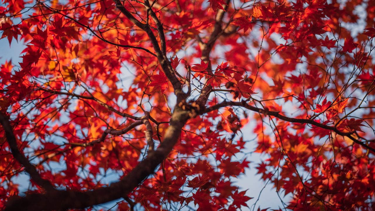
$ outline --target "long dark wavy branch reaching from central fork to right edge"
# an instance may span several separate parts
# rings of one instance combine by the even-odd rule
[[[224,102],[221,102],[221,103],[216,104],[214,106],[208,107],[207,109],[203,110],[201,112],[201,114],[202,113],[208,113],[208,112],[211,112],[211,111],[214,111],[214,110],[220,109],[222,107],[226,107],[226,106],[240,106],[240,107],[244,107],[246,109],[252,110],[254,112],[262,113],[264,115],[275,116],[276,118],[287,121],[287,122],[301,123],[301,124],[311,124],[311,125],[315,125],[315,126],[320,127],[320,128],[331,130],[331,131],[334,131],[335,133],[337,133],[341,136],[346,136],[346,137],[350,138],[351,140],[353,140],[353,142],[355,142],[355,143],[363,146],[364,148],[372,151],[373,153],[375,153],[374,148],[366,145],[363,142],[360,142],[359,140],[357,140],[353,136],[351,136],[353,133],[342,132],[342,131],[338,130],[338,128],[336,128],[336,127],[324,125],[324,124],[321,124],[319,122],[315,122],[313,119],[299,119],[299,118],[290,118],[290,117],[287,117],[287,116],[283,116],[279,112],[273,112],[273,111],[269,111],[269,110],[266,110],[266,109],[257,108],[255,106],[247,104],[245,101],[242,101],[242,102],[224,101]]]

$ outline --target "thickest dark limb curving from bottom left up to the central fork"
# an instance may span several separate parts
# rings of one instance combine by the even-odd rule
[[[121,181],[115,182],[109,187],[85,192],[58,190],[48,194],[28,194],[23,198],[9,200],[5,211],[82,209],[126,196],[153,173],[154,169],[172,151],[187,119],[189,119],[189,113],[180,107],[175,107],[159,148],[150,152],[147,158],[134,167]]]

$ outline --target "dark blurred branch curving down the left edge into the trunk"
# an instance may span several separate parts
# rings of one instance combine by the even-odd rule
[[[49,182],[46,179],[43,179],[40,177],[39,173],[35,169],[35,166],[33,166],[28,159],[25,157],[24,154],[20,152],[17,146],[17,140],[14,136],[13,129],[10,126],[9,120],[3,116],[3,114],[0,113],[0,123],[3,125],[4,133],[6,136],[6,140],[9,144],[10,151],[12,151],[12,155],[14,159],[16,159],[21,165],[25,167],[26,172],[30,175],[31,179],[40,187],[44,188],[46,191],[53,192],[56,191],[56,189],[53,187],[51,182]]]

